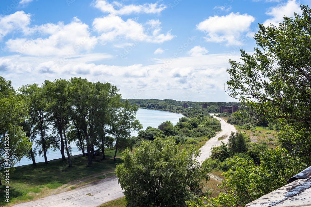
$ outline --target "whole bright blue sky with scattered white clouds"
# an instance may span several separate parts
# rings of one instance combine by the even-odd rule
[[[237,101],[229,59],[252,53],[258,24],[310,0],[1,0],[0,76],[110,82],[124,99]]]

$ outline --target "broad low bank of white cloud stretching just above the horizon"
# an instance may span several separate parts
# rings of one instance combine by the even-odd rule
[[[157,59],[149,65],[118,66],[94,64],[89,61],[92,56],[96,59],[109,57],[81,55],[59,64],[57,57],[13,55],[0,58],[0,69],[3,66],[2,76],[11,80],[16,89],[23,84],[41,85],[44,80],[53,81],[59,77],[67,80],[81,77],[88,81],[110,82],[120,88],[124,98],[224,101],[228,99],[223,89],[229,76],[226,72],[230,67],[228,59],[240,59],[239,54],[213,54]]]

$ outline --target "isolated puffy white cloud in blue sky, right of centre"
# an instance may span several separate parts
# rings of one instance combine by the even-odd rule
[[[250,24],[255,18],[248,14],[230,13],[226,16],[209,17],[197,24],[197,29],[207,34],[208,42],[226,42],[227,45],[242,45],[239,38],[241,33],[249,31]]]

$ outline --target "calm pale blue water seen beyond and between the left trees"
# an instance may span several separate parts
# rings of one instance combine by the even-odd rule
[[[148,126],[152,126],[157,128],[162,122],[165,121],[171,121],[173,125],[176,125],[176,123],[179,121],[179,118],[184,117],[182,114],[178,113],[173,113],[173,112],[164,112],[164,111],[158,111],[158,110],[147,110],[147,109],[142,109],[139,108],[136,118],[140,121],[140,123],[143,126],[143,130],[146,130]],[[137,132],[132,132],[132,136],[137,136]],[[76,146],[71,146],[72,147],[72,155],[79,155],[82,154],[82,152],[79,150]],[[67,153],[65,152],[65,155]],[[48,160],[54,160],[61,158],[60,151],[53,151],[52,149],[49,149],[47,152],[47,158]],[[44,157],[36,156],[35,157],[36,162],[44,162]],[[16,166],[21,166],[21,165],[29,165],[32,164],[31,160],[28,160],[28,158],[23,157],[21,159],[21,162],[17,163]]]

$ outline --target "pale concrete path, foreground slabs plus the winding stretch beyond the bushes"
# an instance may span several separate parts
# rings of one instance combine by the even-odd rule
[[[215,116],[214,118],[222,120]],[[202,154],[198,157],[198,161],[202,162],[209,157],[211,155],[211,148],[215,145],[220,145],[221,141],[227,143],[231,131],[235,131],[234,126],[227,124],[225,121],[221,121],[220,123],[222,131],[208,140],[207,143],[200,148]],[[218,140],[218,138],[222,136],[227,136],[227,138]],[[113,178],[110,180],[105,179],[104,182],[89,187],[76,188],[72,191],[17,204],[14,205],[14,207],[96,207],[123,196],[123,190],[118,184],[118,179]]]

